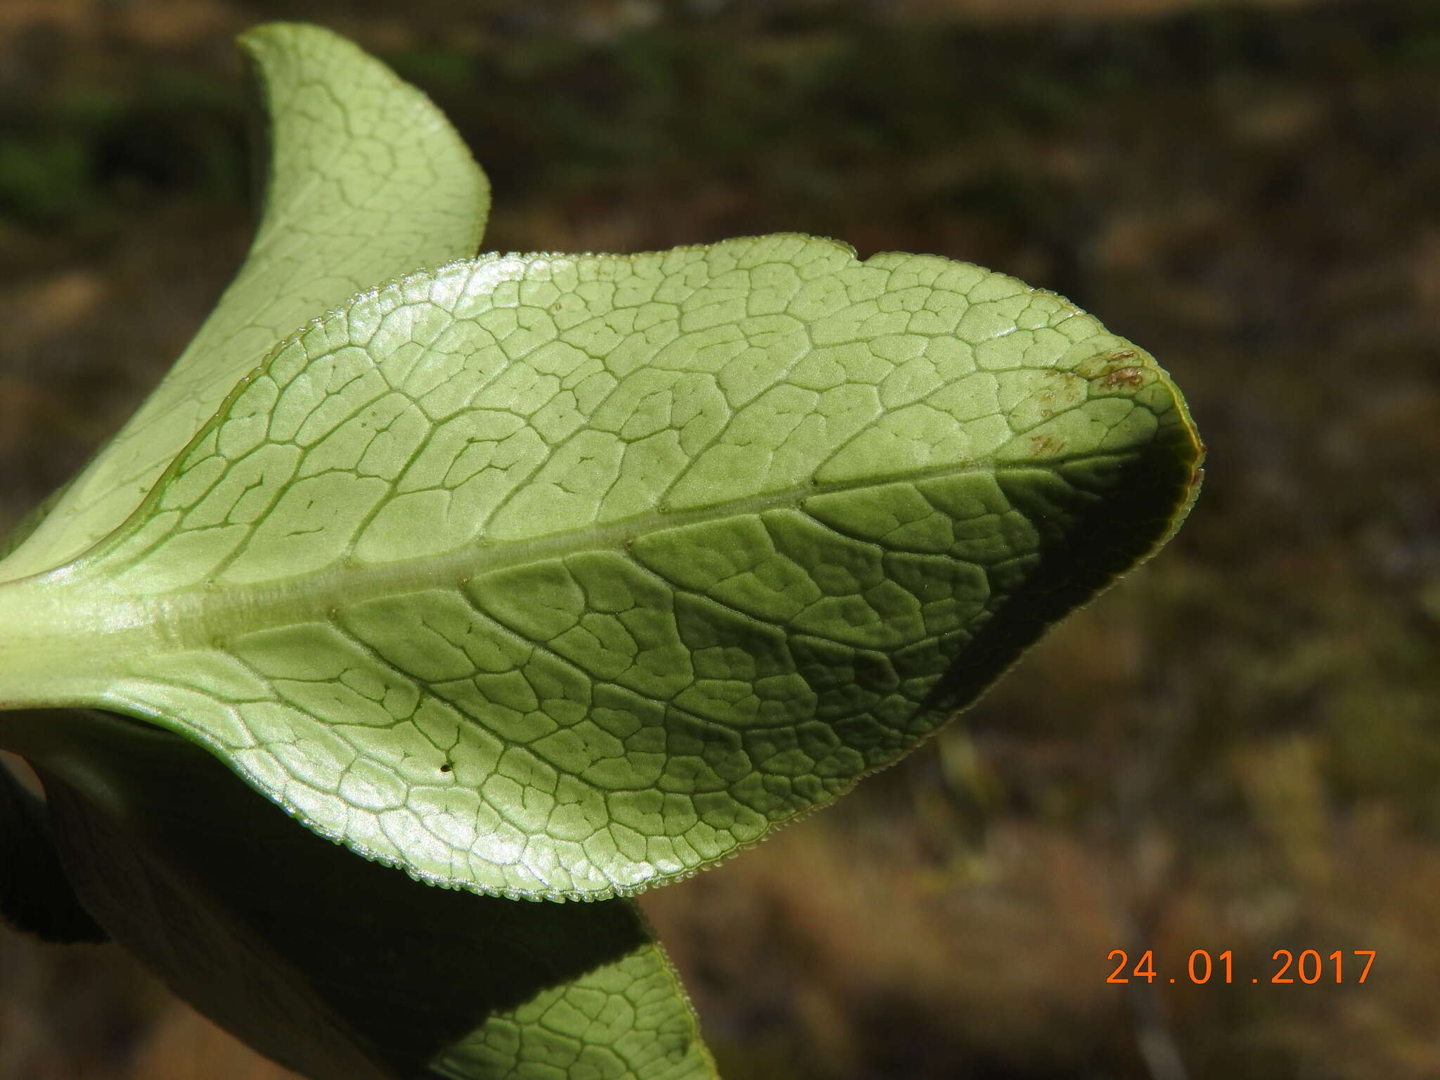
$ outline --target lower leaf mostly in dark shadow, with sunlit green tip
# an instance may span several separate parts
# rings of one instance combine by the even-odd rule
[[[708,1080],[629,900],[433,888],[295,828],[184,739],[27,717],[56,835],[96,916],[253,1047],[315,1080]]]

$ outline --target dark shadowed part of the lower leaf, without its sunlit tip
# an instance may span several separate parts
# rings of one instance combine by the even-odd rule
[[[490,1014],[648,942],[626,901],[498,900],[359,858],[148,724],[78,711],[26,723],[65,740],[39,773],[85,904],[202,1011],[301,1071],[372,1076],[354,1050],[307,1057],[318,1028],[396,1076],[429,1076]]]

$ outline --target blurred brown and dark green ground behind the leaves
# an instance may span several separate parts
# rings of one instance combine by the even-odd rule
[[[0,526],[238,265],[232,39],[275,17],[439,102],[487,248],[942,253],[1189,396],[1208,480],[1153,563],[900,766],[645,897],[727,1080],[1440,1077],[1440,4],[0,0]],[[1161,978],[1107,984],[1113,949]],[[1277,949],[1377,959],[1276,985]],[[114,946],[0,929],[0,1080],[284,1076]]]

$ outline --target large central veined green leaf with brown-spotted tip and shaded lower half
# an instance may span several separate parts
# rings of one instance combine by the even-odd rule
[[[317,320],[0,589],[0,701],[147,717],[429,881],[631,893],[910,750],[1198,462],[1149,356],[978,266],[488,256]]]

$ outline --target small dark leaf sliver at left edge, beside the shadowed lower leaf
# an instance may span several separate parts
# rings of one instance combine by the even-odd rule
[[[45,804],[0,760],[0,919],[46,942],[104,942],[60,868]]]

